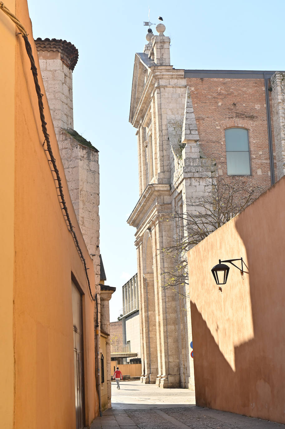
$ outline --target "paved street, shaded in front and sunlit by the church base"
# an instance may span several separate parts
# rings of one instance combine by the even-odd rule
[[[112,383],[112,409],[97,417],[91,429],[285,429],[285,425],[239,414],[196,407],[186,389],[159,389],[153,384]]]

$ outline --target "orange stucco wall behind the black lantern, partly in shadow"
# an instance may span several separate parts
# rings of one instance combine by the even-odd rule
[[[285,178],[188,252],[197,405],[285,423]],[[218,291],[211,269],[230,264]]]

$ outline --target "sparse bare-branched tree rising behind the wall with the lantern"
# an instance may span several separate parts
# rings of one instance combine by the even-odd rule
[[[174,221],[177,230],[174,245],[160,249],[168,255],[173,268],[163,273],[162,287],[180,293],[180,287],[189,284],[187,251],[243,211],[262,192],[262,187],[243,178],[218,177],[212,179],[208,193],[189,201],[191,209],[187,213],[173,212],[169,221]]]

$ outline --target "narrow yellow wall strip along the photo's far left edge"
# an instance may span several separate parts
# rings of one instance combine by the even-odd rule
[[[15,13],[15,1],[6,6]],[[12,428],[14,408],[13,277],[15,162],[15,25],[0,11],[0,416],[1,427]]]

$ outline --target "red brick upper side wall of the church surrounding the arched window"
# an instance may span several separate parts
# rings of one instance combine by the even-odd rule
[[[225,128],[244,127],[249,130],[252,180],[270,187],[264,80],[187,78],[186,82],[191,90],[201,149],[205,157],[216,158],[219,175],[227,175]],[[271,125],[273,129],[272,120]]]

